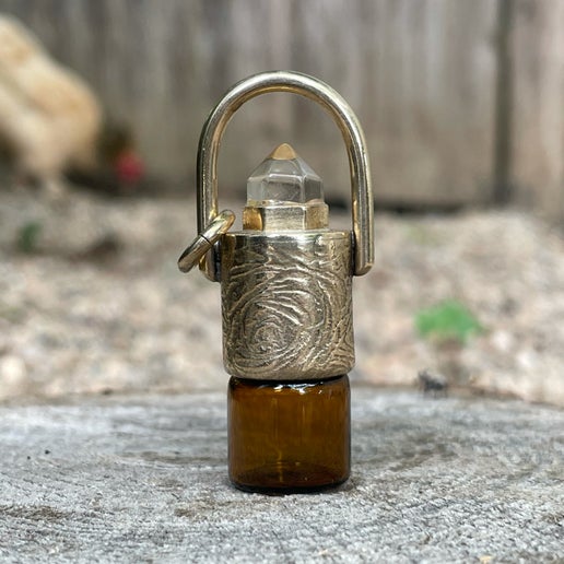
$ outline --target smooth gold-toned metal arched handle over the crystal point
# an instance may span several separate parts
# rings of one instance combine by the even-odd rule
[[[198,148],[198,232],[218,215],[218,153],[225,127],[245,102],[269,92],[299,94],[321,105],[341,130],[351,173],[352,224],[355,275],[365,274],[374,262],[373,201],[366,142],[361,125],[344,98],[320,80],[291,71],[255,74],[235,84],[208,117]],[[211,280],[219,280],[216,246],[200,262]]]

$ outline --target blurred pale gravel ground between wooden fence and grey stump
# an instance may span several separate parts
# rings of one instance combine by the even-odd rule
[[[0,399],[224,389],[220,287],[176,268],[195,231],[192,197],[2,191]],[[458,389],[564,406],[564,240],[540,220],[377,214],[376,265],[354,286],[353,381],[413,386],[426,367]],[[485,328],[463,346],[414,329],[448,298]]]

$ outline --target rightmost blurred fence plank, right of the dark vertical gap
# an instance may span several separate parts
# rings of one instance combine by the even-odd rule
[[[564,218],[564,3],[516,0],[512,180],[521,202]]]

